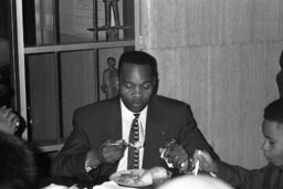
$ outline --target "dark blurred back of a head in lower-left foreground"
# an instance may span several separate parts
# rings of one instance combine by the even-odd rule
[[[20,138],[0,132],[0,189],[34,189],[35,178],[32,150]]]

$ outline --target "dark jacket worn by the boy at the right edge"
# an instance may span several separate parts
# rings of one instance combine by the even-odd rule
[[[283,167],[269,164],[261,169],[248,170],[240,166],[218,162],[217,176],[237,189],[282,189]]]

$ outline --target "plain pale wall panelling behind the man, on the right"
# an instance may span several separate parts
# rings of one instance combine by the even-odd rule
[[[189,103],[220,157],[247,168],[263,108],[279,97],[282,0],[143,0],[143,50],[157,57],[161,95]]]

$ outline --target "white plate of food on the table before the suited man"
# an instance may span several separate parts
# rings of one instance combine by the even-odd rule
[[[114,172],[111,175],[109,180],[125,187],[146,187],[153,185],[153,182],[143,182],[139,177],[145,172],[145,169],[129,169]]]

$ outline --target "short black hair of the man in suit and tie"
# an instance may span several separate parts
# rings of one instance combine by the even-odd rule
[[[137,64],[137,65],[150,65],[153,76],[158,77],[157,62],[154,56],[143,51],[126,51],[119,57],[118,73],[120,74],[120,67],[124,63]]]

